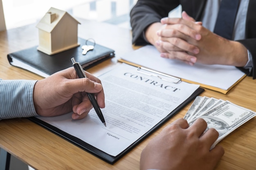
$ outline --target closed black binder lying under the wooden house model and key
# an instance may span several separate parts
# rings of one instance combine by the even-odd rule
[[[71,67],[72,62],[70,59],[72,57],[74,57],[76,62],[79,62],[84,69],[88,69],[110,57],[115,56],[114,50],[101,46],[97,43],[93,50],[90,50],[83,55],[83,49],[81,46],[85,45],[85,42],[86,40],[79,38],[80,46],[55,55],[47,55],[38,51],[38,46],[34,46],[29,49],[10,53],[7,55],[7,58],[9,63],[13,66],[24,68],[43,77],[48,77],[53,73]],[[93,42],[87,42],[87,45],[93,44]]]

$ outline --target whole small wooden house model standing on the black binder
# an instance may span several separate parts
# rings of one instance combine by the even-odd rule
[[[78,24],[80,22],[66,11],[51,7],[36,25],[39,35],[37,49],[53,55],[79,46]]]

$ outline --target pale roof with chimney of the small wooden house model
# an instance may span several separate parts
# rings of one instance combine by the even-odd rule
[[[75,18],[73,18],[69,13],[66,11],[62,11],[56,8],[51,7],[47,13],[45,13],[45,16],[38,22],[36,27],[38,29],[44,30],[48,33],[51,33],[54,27],[58,24],[58,22],[63,18],[64,16],[70,17],[72,20],[78,22]]]

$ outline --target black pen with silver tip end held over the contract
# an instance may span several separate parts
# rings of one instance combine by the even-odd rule
[[[76,62],[74,57],[71,59],[73,66],[76,70],[76,73],[78,75],[79,78],[86,78],[85,72],[83,70],[83,67],[80,65],[79,62]],[[99,116],[99,119],[101,119],[101,122],[106,126],[106,122],[105,119],[103,117],[103,114],[101,112],[101,108],[99,108],[99,105],[97,103],[97,100],[95,99],[94,95],[92,93],[87,93],[88,97],[92,103],[92,106],[95,110],[95,112],[97,113],[97,115]],[[107,126],[106,126],[107,127]]]

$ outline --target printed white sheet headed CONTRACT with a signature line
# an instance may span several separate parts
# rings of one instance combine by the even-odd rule
[[[146,75],[124,63],[99,76],[105,93],[106,107],[101,111],[106,127],[93,108],[82,120],[72,120],[72,113],[36,119],[116,157],[156,128],[170,113],[175,115],[179,111],[173,113],[173,110],[183,108],[203,91],[199,85],[173,83],[168,77],[161,79],[163,76],[160,76]],[[195,93],[198,89],[201,91]]]

